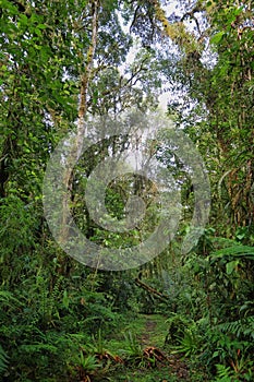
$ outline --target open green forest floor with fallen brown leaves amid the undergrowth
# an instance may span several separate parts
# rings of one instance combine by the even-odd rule
[[[128,334],[129,333],[129,334]],[[130,335],[131,333],[131,335]],[[135,320],[126,322],[121,331],[109,342],[110,350],[114,354],[119,349],[129,347],[132,354],[132,362],[118,365],[116,370],[109,373],[107,381],[113,382],[177,382],[177,381],[203,381],[206,379],[198,370],[192,370],[190,361],[185,361],[180,355],[172,355],[165,346],[167,335],[166,318],[161,314],[138,314]],[[126,341],[129,338],[129,341]],[[130,343],[130,338],[132,339]],[[138,351],[155,351],[165,358],[149,365],[146,359],[138,356]],[[135,355],[136,353],[136,355]],[[136,360],[136,362],[135,362]],[[106,380],[105,380],[106,381]]]

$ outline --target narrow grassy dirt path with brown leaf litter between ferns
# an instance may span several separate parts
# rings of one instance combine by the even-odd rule
[[[137,365],[120,365],[116,373],[111,374],[113,382],[207,382],[206,378],[199,379],[198,370],[191,370],[188,361],[181,359],[182,355],[174,355],[170,347],[165,346],[168,324],[162,314],[138,314],[133,322],[129,322],[124,332],[131,331],[143,350],[143,357],[148,355],[162,355],[157,359],[156,366],[150,367],[137,356]],[[123,333],[124,333],[123,332]],[[123,334],[122,334],[123,335]],[[116,343],[114,343],[116,345]],[[123,344],[120,343],[116,353]],[[158,349],[158,351],[157,351]],[[155,353],[153,353],[155,350]],[[141,363],[138,363],[141,362]],[[203,375],[203,373],[202,373]]]

